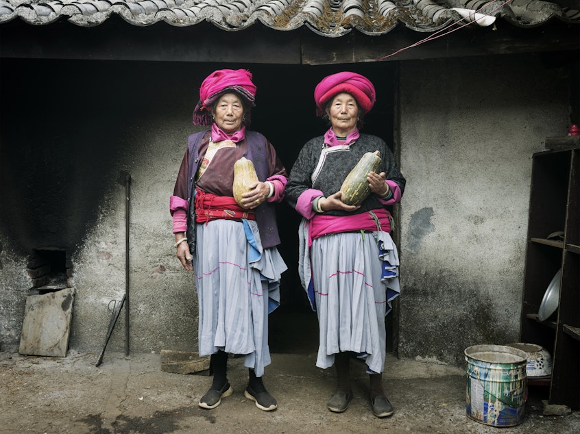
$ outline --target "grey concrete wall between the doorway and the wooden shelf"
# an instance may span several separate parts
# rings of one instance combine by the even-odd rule
[[[470,345],[518,342],[531,155],[568,131],[568,77],[535,56],[400,76],[400,355],[462,363]]]

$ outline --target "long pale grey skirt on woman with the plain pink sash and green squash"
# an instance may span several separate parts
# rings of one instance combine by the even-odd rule
[[[312,283],[319,324],[316,366],[333,366],[335,354],[352,351],[367,372],[385,367],[385,315],[400,293],[398,254],[388,233],[346,232],[311,246]]]

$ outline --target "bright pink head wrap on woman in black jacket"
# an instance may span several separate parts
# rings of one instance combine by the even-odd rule
[[[318,116],[324,116],[324,105],[336,94],[347,92],[351,94],[361,106],[363,113],[372,109],[376,101],[374,86],[367,77],[357,73],[343,71],[324,77],[314,89],[314,101],[318,107]]]

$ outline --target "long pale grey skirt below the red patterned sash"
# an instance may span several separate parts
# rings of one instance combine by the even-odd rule
[[[193,259],[199,305],[199,351],[245,355],[262,376],[270,363],[268,314],[280,304],[287,266],[277,248],[263,248],[255,221],[196,225]]]

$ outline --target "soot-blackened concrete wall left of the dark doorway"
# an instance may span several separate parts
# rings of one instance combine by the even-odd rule
[[[2,349],[19,345],[35,248],[71,256],[71,348],[102,348],[110,308],[125,292],[125,186],[118,182],[124,170],[132,177],[131,349],[195,350],[193,276],[175,257],[169,196],[193,131],[196,92],[210,69],[143,65],[3,61]],[[108,350],[123,348],[123,327],[121,314]]]

